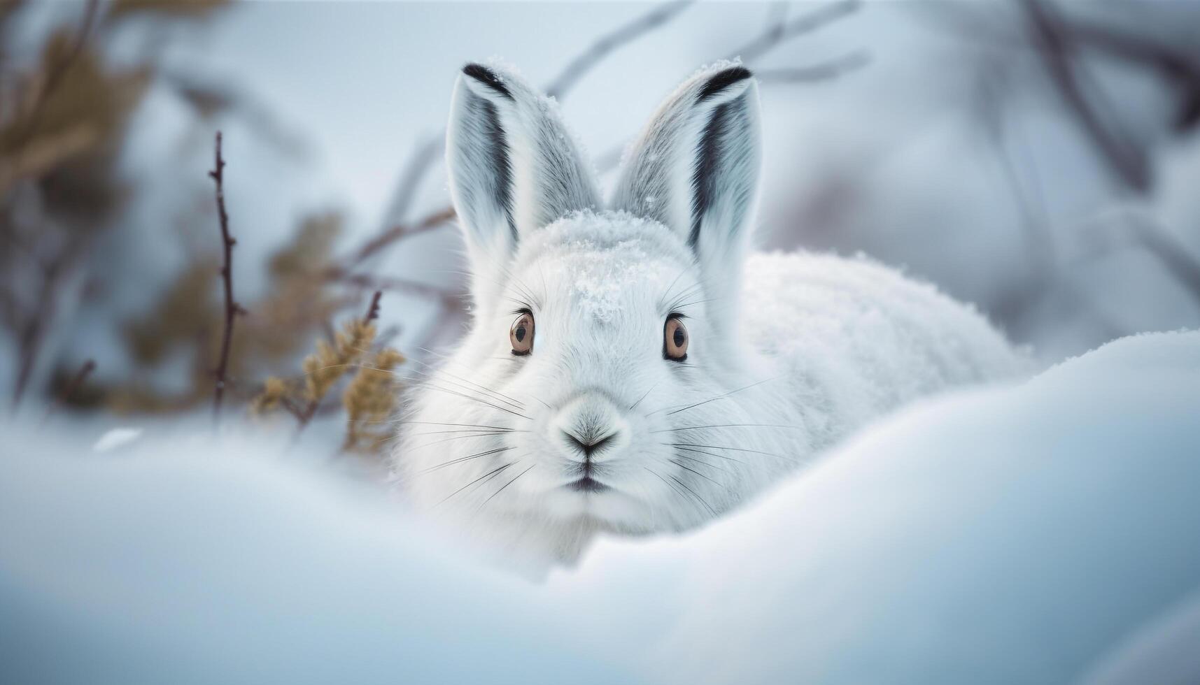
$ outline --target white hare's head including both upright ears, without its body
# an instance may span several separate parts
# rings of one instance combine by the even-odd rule
[[[756,480],[738,335],[757,88],[703,71],[602,204],[556,103],[463,68],[446,136],[473,325],[415,399],[397,465],[428,504],[628,531],[707,519]],[[768,411],[769,414],[770,411]]]

